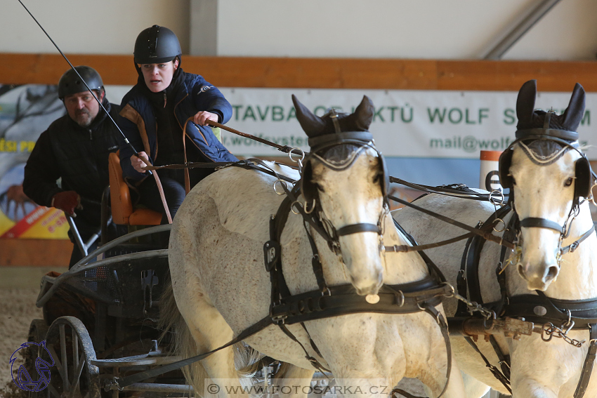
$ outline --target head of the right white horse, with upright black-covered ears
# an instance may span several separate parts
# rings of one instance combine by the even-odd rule
[[[531,290],[545,291],[560,272],[562,242],[590,197],[591,166],[576,132],[584,114],[584,90],[576,84],[563,114],[534,110],[537,81],[518,93],[516,141],[500,157],[499,177],[510,188],[520,220],[518,273]]]

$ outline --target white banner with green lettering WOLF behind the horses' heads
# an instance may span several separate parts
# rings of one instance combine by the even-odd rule
[[[107,88],[110,100],[124,95],[124,86]],[[480,150],[504,150],[516,133],[516,97],[512,91],[402,91],[298,88],[220,88],[233,107],[227,125],[280,145],[308,150],[307,137],[296,121],[291,94],[322,116],[329,107],[353,112],[363,95],[375,105],[369,130],[388,157],[479,159]],[[536,109],[561,114],[570,93],[539,93]],[[118,98],[119,101],[119,98]],[[597,93],[587,93],[579,126],[580,141],[597,145],[591,128]],[[280,155],[274,148],[249,138],[224,133],[225,146],[244,156]],[[587,153],[597,159],[597,151]]]

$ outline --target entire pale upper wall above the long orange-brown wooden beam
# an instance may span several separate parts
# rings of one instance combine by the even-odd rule
[[[190,20],[201,19],[190,1],[217,1],[216,51],[203,53],[475,59],[542,0],[23,1],[67,53],[132,53],[138,32],[154,23],[173,29],[188,53]],[[596,15],[595,0],[560,1],[504,59],[593,60]],[[0,37],[0,52],[55,51],[16,0],[1,4]]]

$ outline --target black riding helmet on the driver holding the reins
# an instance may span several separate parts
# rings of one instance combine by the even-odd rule
[[[135,41],[136,64],[158,64],[181,58],[178,37],[167,27],[153,25],[141,32]]]

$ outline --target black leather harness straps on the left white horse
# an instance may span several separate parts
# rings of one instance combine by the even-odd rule
[[[369,134],[368,132],[365,133]],[[326,142],[324,142],[324,147],[345,143],[342,140],[343,134],[346,133],[337,134],[336,139],[334,140],[329,140],[329,138],[327,138]],[[355,143],[360,142],[361,145],[363,144],[363,140],[360,139],[361,137],[357,137],[357,135],[354,133],[349,134],[351,141],[356,141]],[[367,143],[366,145],[369,144]],[[314,152],[317,151],[313,151],[312,153]],[[380,157],[380,159],[383,158]],[[259,164],[265,168],[268,168],[268,166],[263,164],[263,161],[259,159],[250,159],[250,161],[247,159],[247,161],[240,161],[237,164],[227,164],[226,166],[254,168],[258,171],[265,171],[271,175],[275,175],[280,180],[289,180],[289,178],[275,173],[275,171],[271,170],[270,168],[268,168],[268,170],[264,170],[263,168],[256,167],[255,164]],[[211,167],[213,166],[216,165],[212,164]],[[388,175],[383,164],[382,167],[383,173],[385,174],[383,176],[384,180],[382,181],[383,189],[384,187],[388,186]],[[438,267],[436,267],[435,264],[433,264],[431,260],[429,260],[427,256],[421,252],[421,256],[426,261],[431,276],[421,279],[420,281],[409,282],[406,284],[383,285],[379,290],[379,302],[377,303],[368,303],[365,296],[357,295],[355,293],[355,288],[350,284],[327,286],[327,283],[324,279],[322,264],[319,260],[319,253],[317,251],[317,247],[315,246],[313,237],[311,237],[310,231],[308,230],[308,225],[313,227],[313,230],[320,234],[328,242],[329,248],[335,252],[339,249],[339,246],[336,246],[334,241],[337,241],[337,237],[339,236],[357,232],[377,232],[381,234],[380,223],[383,222],[383,217],[380,216],[380,223],[378,223],[378,225],[360,223],[348,225],[346,227],[339,228],[338,230],[332,228],[332,234],[330,235],[328,232],[329,228],[326,229],[322,225],[322,221],[315,217],[315,211],[310,211],[307,213],[302,206],[297,205],[297,198],[301,193],[301,184],[297,183],[292,190],[288,190],[284,184],[282,184],[282,187],[287,197],[282,201],[282,204],[280,204],[276,215],[273,215],[270,218],[270,240],[265,242],[263,246],[265,270],[270,272],[270,314],[256,322],[256,324],[249,326],[249,328],[242,331],[230,342],[216,348],[215,350],[211,350],[209,352],[205,352],[204,354],[199,354],[188,359],[183,359],[182,361],[176,361],[172,364],[160,366],[155,369],[136,373],[131,376],[126,376],[124,378],[114,377],[109,384],[116,385],[118,390],[122,390],[124,387],[133,383],[138,383],[142,380],[158,376],[168,371],[180,369],[183,366],[187,366],[195,361],[204,359],[218,350],[221,350],[225,347],[230,347],[235,343],[239,343],[241,340],[249,338],[255,333],[258,333],[267,326],[273,324],[277,325],[280,330],[284,332],[284,334],[301,346],[303,352],[305,352],[306,359],[308,359],[310,364],[312,364],[315,369],[327,371],[327,369],[325,369],[320,363],[320,360],[311,356],[306,347],[300,341],[298,341],[294,335],[292,335],[292,333],[288,330],[287,325],[298,323],[303,326],[305,331],[307,331],[304,324],[305,321],[324,319],[328,317],[338,317],[345,314],[355,314],[362,312],[376,312],[381,314],[412,314],[415,312],[427,312],[433,317],[433,319],[435,319],[435,321],[438,323],[438,326],[440,326],[440,331],[442,333],[442,337],[444,338],[447,350],[447,380],[441,394],[438,397],[442,396],[442,394],[444,394],[444,392],[447,390],[448,380],[450,379],[450,372],[452,370],[452,350],[450,347],[450,336],[447,330],[447,322],[435,307],[440,305],[442,297],[448,296],[452,289],[450,286],[447,286],[447,284],[444,283],[445,278],[441,274]],[[383,194],[385,198],[384,201],[387,201],[387,193],[385,190],[383,191]],[[300,213],[303,217],[310,246],[313,249],[313,273],[317,279],[318,286],[317,290],[315,291],[300,293],[294,296],[290,294],[289,288],[284,279],[284,274],[282,272],[282,248],[280,245],[282,230],[284,229],[284,225],[287,221],[291,208]],[[396,226],[405,234],[405,236],[409,237],[409,235],[406,234],[399,225]],[[414,242],[414,239],[412,239],[412,242]],[[414,244],[416,244],[416,242],[414,242]],[[392,251],[391,248],[386,248],[386,250]],[[322,358],[320,351],[317,349],[317,346],[313,340],[310,337],[309,340],[310,345],[317,356]],[[406,397],[413,397],[411,394],[398,388],[393,390],[392,393],[399,393],[405,395]]]

